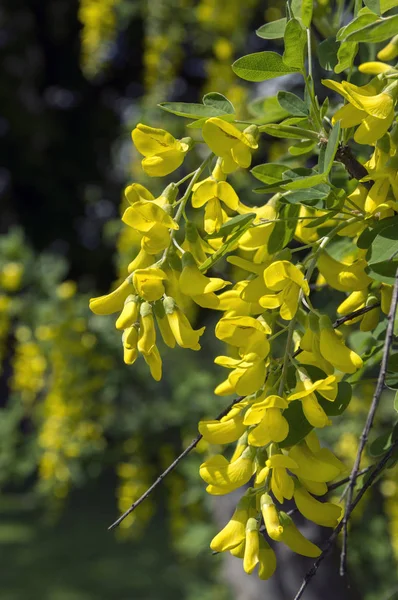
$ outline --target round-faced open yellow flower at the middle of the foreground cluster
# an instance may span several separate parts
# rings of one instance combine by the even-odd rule
[[[293,319],[297,312],[301,291],[308,296],[310,289],[303,273],[287,260],[278,260],[264,271],[265,285],[277,294],[264,295],[259,303],[264,308],[280,307],[282,319]]]

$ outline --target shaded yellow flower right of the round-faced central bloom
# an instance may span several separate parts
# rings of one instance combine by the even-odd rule
[[[323,250],[318,258],[317,267],[330,287],[339,292],[355,292],[367,288],[372,280],[365,273],[367,262],[364,258],[351,265],[332,258]]]

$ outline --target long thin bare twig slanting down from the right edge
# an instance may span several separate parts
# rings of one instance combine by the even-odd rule
[[[347,525],[348,525],[348,519],[350,518],[350,514],[352,511],[352,498],[353,498],[353,494],[354,494],[356,476],[359,471],[362,454],[363,454],[364,448],[366,446],[366,442],[368,441],[369,432],[372,428],[376,410],[379,405],[381,394],[384,389],[384,383],[385,383],[386,373],[387,373],[388,357],[390,355],[390,350],[391,350],[391,346],[392,346],[392,342],[393,342],[394,321],[395,321],[395,313],[397,311],[397,303],[398,303],[398,269],[395,274],[395,283],[394,283],[394,288],[393,288],[393,292],[392,292],[391,306],[390,306],[390,311],[389,311],[388,317],[387,317],[388,325],[387,325],[386,337],[384,340],[383,357],[381,359],[379,376],[377,378],[377,384],[376,384],[376,388],[375,388],[375,391],[373,394],[373,399],[372,399],[372,403],[370,405],[368,416],[366,419],[365,427],[363,428],[363,431],[362,431],[362,434],[361,434],[361,437],[359,440],[358,451],[357,451],[357,455],[355,458],[354,466],[352,467],[350,481],[348,484],[346,509],[344,512],[344,517],[342,519],[344,531],[343,531],[343,546],[341,549],[341,561],[340,561],[340,575],[341,576],[343,576],[345,574],[346,566],[347,566],[347,542],[348,542],[348,527],[347,527]]]

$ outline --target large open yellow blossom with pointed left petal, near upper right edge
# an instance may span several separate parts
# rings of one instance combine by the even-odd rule
[[[347,100],[348,104],[334,114],[332,122],[340,121],[343,128],[359,125],[354,134],[358,144],[374,144],[388,131],[394,119],[396,82],[386,86],[383,79],[376,77],[362,87],[331,79],[324,79],[322,83]]]

